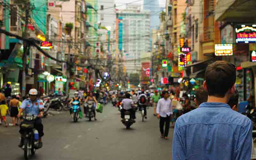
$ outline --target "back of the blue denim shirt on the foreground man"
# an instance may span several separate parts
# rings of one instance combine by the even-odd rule
[[[246,140],[249,132],[240,134],[245,128],[251,127],[249,124],[249,118],[233,111],[228,104],[212,105],[205,102],[199,108],[180,116],[175,129],[187,137],[183,143],[187,159],[205,160],[208,157],[210,160],[235,160],[241,154],[236,149],[243,147],[243,143],[252,141]],[[247,149],[247,153],[243,154],[250,155],[251,149]]]

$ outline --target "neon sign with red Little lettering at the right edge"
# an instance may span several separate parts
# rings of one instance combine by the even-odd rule
[[[237,25],[236,43],[256,43],[256,25]]]

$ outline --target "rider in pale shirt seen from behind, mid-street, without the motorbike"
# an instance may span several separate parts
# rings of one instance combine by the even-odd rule
[[[126,93],[125,94],[125,98],[122,100],[122,106],[123,106],[123,109],[122,109],[122,112],[121,112],[121,118],[122,118],[122,122],[124,122],[124,113],[125,111],[130,111],[131,113],[131,121],[132,123],[135,123],[134,119],[136,118],[135,117],[135,112],[134,110],[132,109],[132,107],[134,107],[134,103],[133,103],[133,100],[130,99],[130,94],[129,93]]]

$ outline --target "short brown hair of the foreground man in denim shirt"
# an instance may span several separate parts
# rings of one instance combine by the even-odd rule
[[[205,81],[210,96],[223,98],[236,83],[236,67],[226,61],[209,64],[205,70]]]

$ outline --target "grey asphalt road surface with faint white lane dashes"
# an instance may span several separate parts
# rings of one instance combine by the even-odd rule
[[[43,119],[43,148],[36,150],[34,160],[172,160],[172,134],[170,140],[160,138],[159,120],[148,109],[148,119],[141,121],[136,113],[136,123],[126,130],[120,122],[117,108],[108,104],[98,121],[86,118],[78,123],[68,112]],[[8,121],[10,119],[8,117]],[[23,150],[18,148],[19,127],[0,125],[0,159],[22,160]]]

